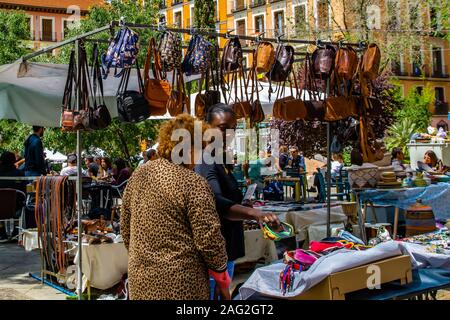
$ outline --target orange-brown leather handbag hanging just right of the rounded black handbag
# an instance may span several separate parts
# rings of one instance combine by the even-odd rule
[[[152,66],[153,79],[149,76],[152,57],[154,57],[154,64]],[[144,95],[148,101],[152,115],[166,114],[170,92],[170,84],[167,79],[164,79],[162,74],[161,59],[156,48],[156,41],[152,38],[148,45],[144,67]]]

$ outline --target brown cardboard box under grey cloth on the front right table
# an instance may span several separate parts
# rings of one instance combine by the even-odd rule
[[[313,288],[292,299],[345,300],[346,293],[368,288],[368,280],[372,276],[372,273],[368,272],[368,267],[373,265],[380,268],[380,284],[395,280],[400,280],[402,285],[412,282],[411,259],[403,255],[333,273]]]

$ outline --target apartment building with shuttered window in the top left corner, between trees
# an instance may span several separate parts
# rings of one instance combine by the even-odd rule
[[[82,18],[89,7],[104,0],[0,0],[0,9],[22,10],[28,16],[30,45],[34,49],[64,39],[75,16]]]

